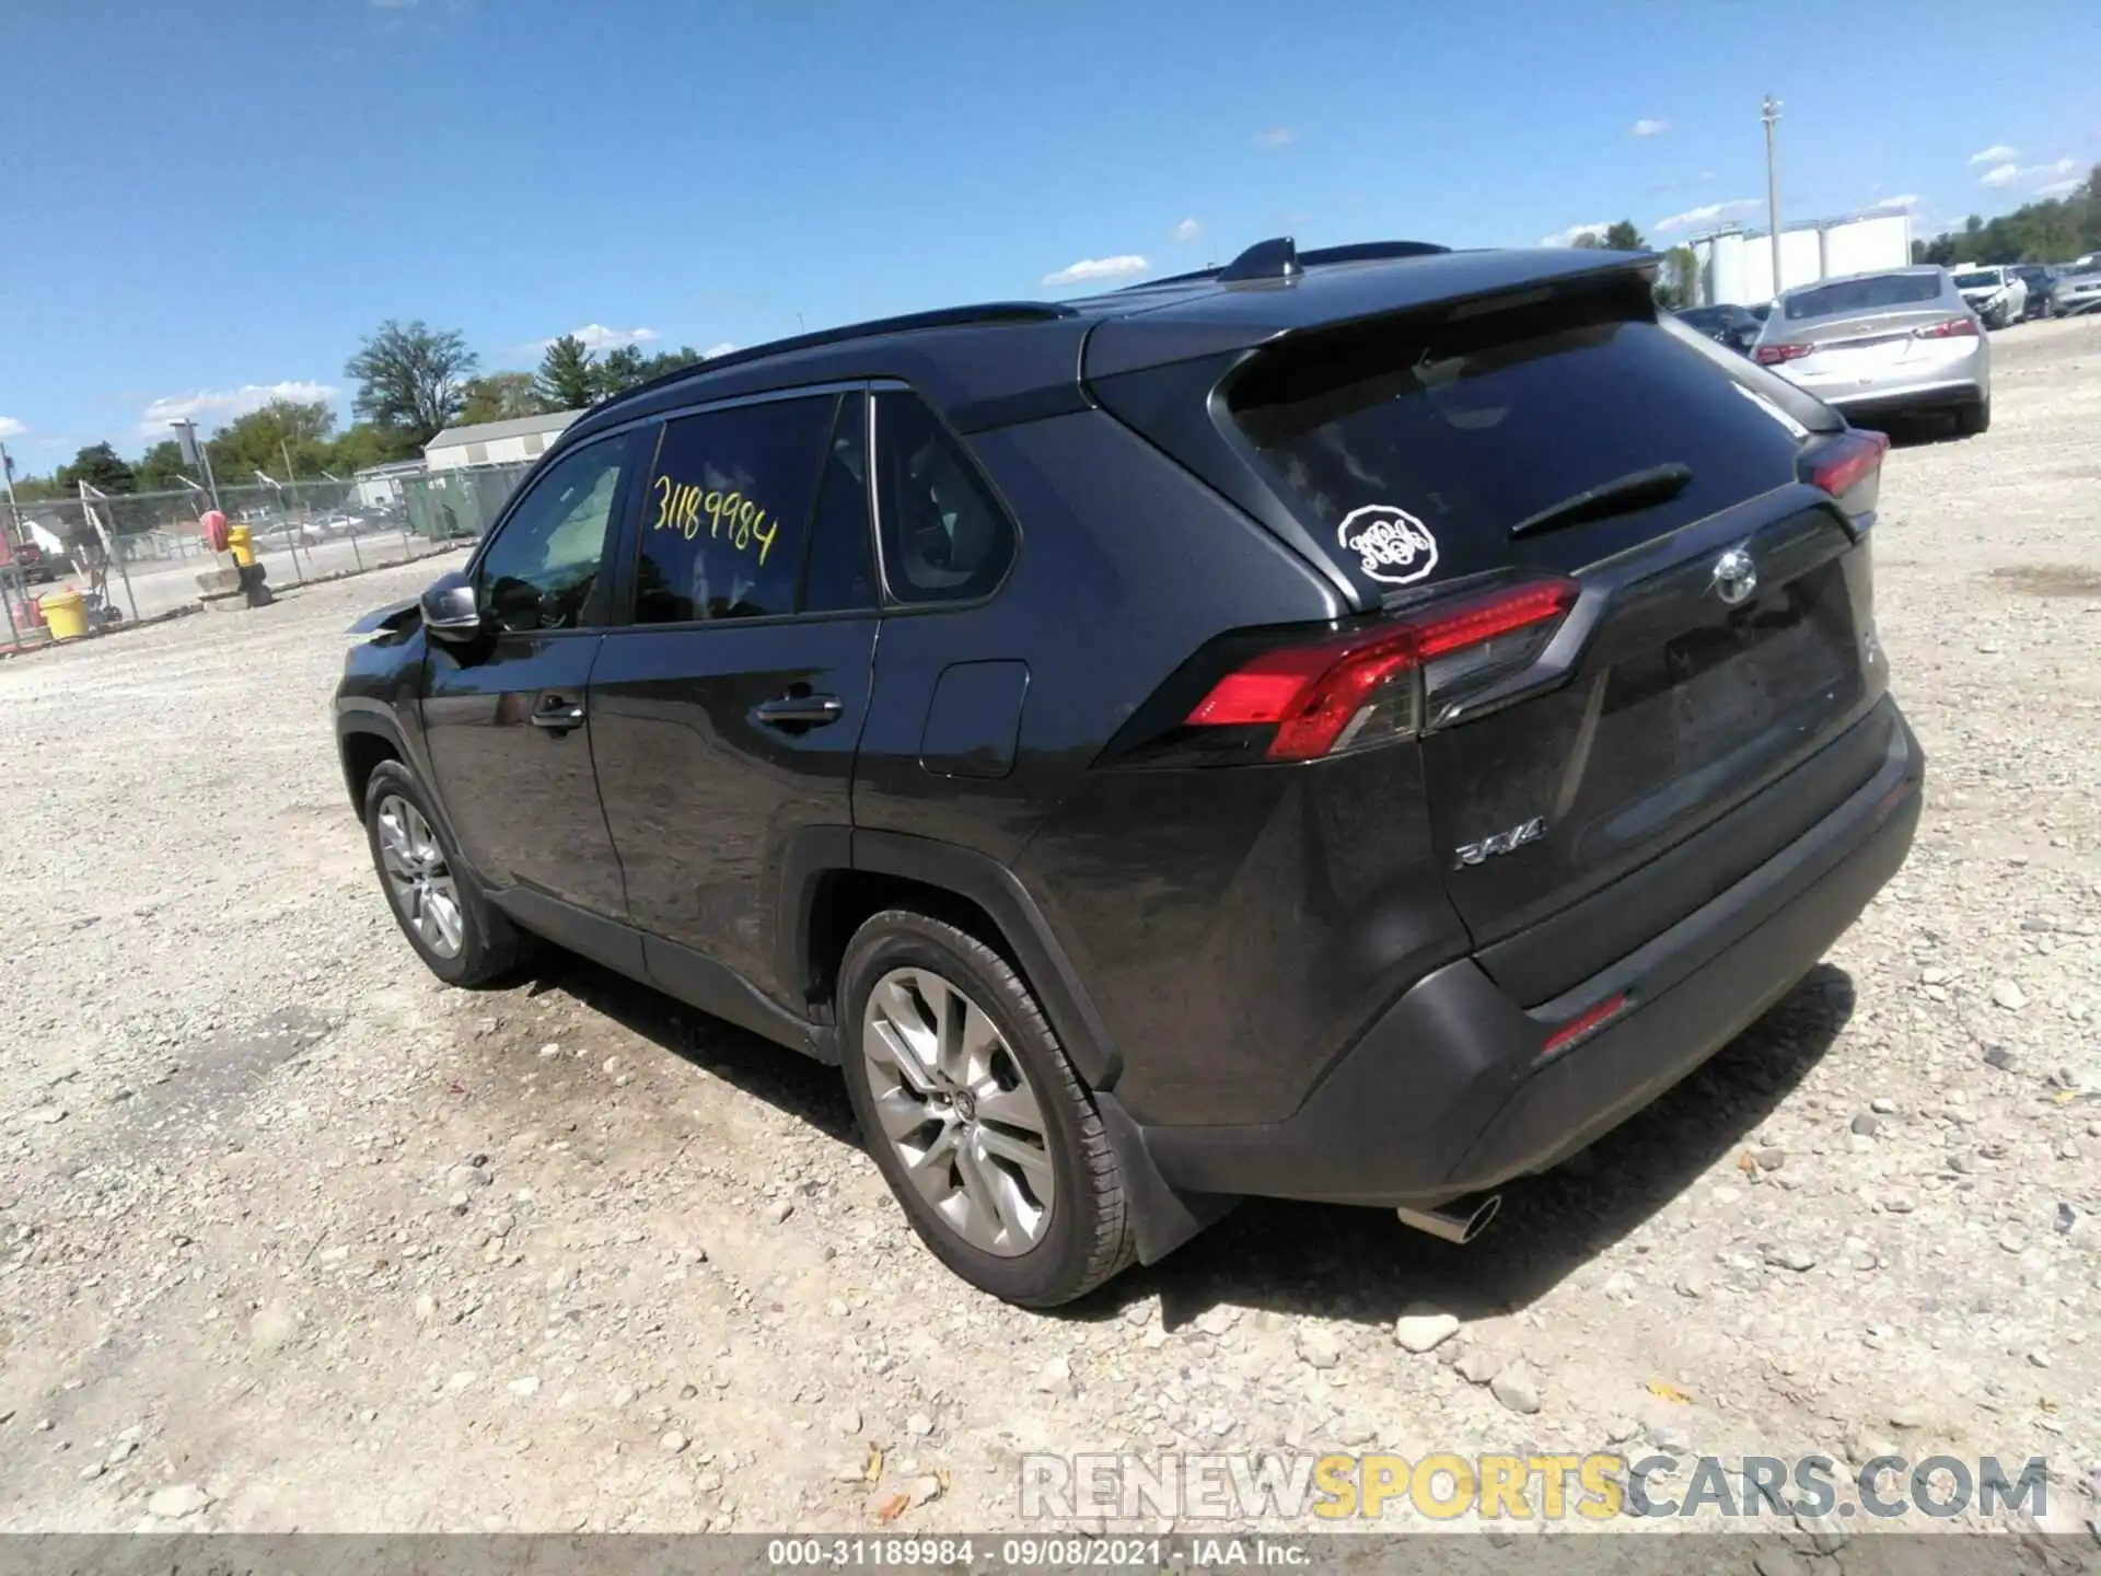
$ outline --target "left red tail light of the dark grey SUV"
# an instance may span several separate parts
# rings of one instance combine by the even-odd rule
[[[1271,727],[1267,761],[1412,738],[1427,704],[1454,685],[1538,656],[1574,603],[1574,580],[1527,580],[1374,628],[1280,645],[1219,679],[1183,725]]]

